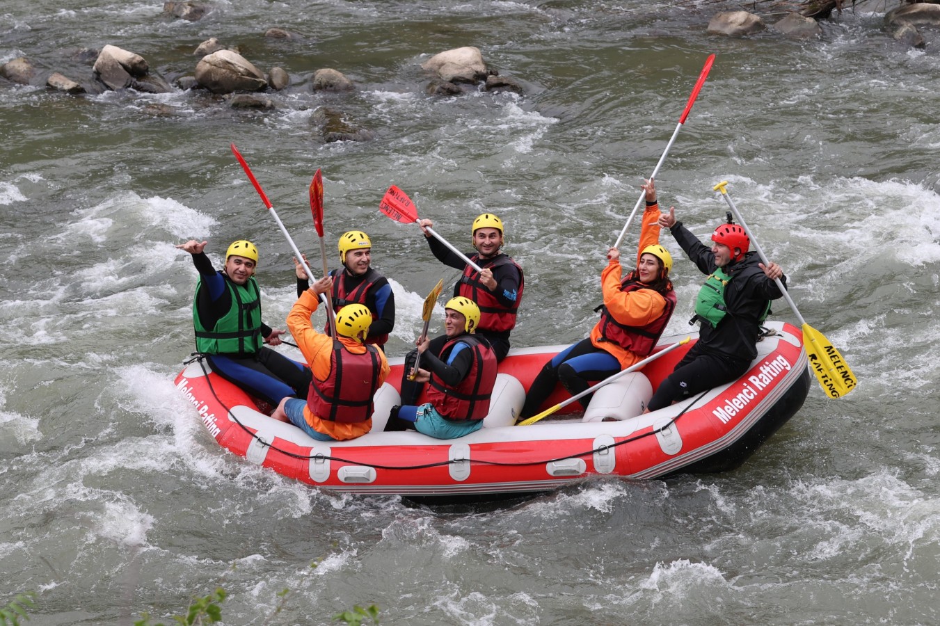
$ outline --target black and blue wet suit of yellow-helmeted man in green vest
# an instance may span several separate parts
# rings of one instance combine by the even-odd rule
[[[227,286],[228,277],[212,267],[205,253],[193,255],[193,264],[200,277],[196,291],[197,315],[204,328],[213,328],[234,305]],[[261,336],[270,336],[271,330],[261,323]],[[312,376],[309,368],[263,346],[258,352],[206,354],[206,359],[219,376],[272,406],[277,406],[287,396],[306,398]]]

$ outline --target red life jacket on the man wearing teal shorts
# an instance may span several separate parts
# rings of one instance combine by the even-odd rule
[[[428,401],[441,415],[449,419],[483,419],[490,413],[490,395],[496,383],[496,354],[486,341],[477,336],[461,335],[450,339],[441,349],[440,359],[462,342],[473,351],[473,365],[456,387],[447,386],[431,372]]]

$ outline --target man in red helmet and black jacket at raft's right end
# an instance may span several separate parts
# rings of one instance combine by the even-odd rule
[[[770,313],[770,301],[783,296],[774,279],[786,286],[787,278],[779,265],[765,267],[758,253],[747,251],[747,233],[730,217],[728,224],[715,228],[711,249],[676,221],[675,209],[659,218],[659,225],[669,229],[708,279],[698,291],[692,318],[701,322],[698,341],[656,389],[648,412],[730,383],[757,358],[760,323]]]

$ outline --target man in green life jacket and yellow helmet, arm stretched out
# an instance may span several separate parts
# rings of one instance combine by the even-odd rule
[[[252,396],[277,406],[289,396],[303,398],[310,370],[262,345],[277,346],[283,330],[261,321],[261,293],[255,280],[258,248],[240,240],[228,246],[225,268],[216,272],[204,250],[207,242],[176,246],[193,255],[199,273],[193,300],[196,350],[213,371]]]

